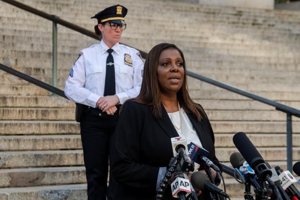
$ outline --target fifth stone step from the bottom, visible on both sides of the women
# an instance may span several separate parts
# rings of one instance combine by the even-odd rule
[[[214,133],[286,133],[286,122],[211,121]],[[300,123],[292,123],[293,133],[300,133]],[[78,134],[75,121],[0,121],[0,135]]]

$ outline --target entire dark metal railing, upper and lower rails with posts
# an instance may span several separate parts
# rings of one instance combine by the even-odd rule
[[[23,10],[26,10],[26,11],[31,12],[33,14],[36,14],[36,15],[38,15],[40,17],[46,18],[48,20],[51,20],[53,22],[53,86],[49,87],[50,85],[48,85],[47,83],[43,83],[43,82],[41,82],[41,81],[39,81],[37,79],[34,79],[34,78],[30,77],[30,76],[22,74],[22,73],[20,73],[20,72],[18,72],[16,70],[12,71],[11,68],[7,69],[9,67],[7,67],[5,65],[2,65],[2,64],[0,64],[0,69],[6,71],[8,73],[12,73],[13,75],[16,75],[16,76],[18,76],[20,78],[23,77],[24,80],[27,80],[30,83],[36,84],[37,86],[42,87],[42,88],[44,88],[46,90],[49,90],[49,91],[51,91],[51,92],[53,92],[55,94],[58,94],[59,96],[65,97],[63,91],[60,90],[60,89],[58,89],[58,88],[56,88],[56,84],[57,84],[57,24],[60,24],[60,25],[65,26],[65,27],[68,27],[68,28],[70,28],[70,29],[72,29],[74,31],[80,32],[80,33],[82,33],[84,35],[87,35],[87,36],[92,37],[92,38],[97,39],[97,40],[100,40],[99,36],[96,35],[94,32],[91,32],[91,31],[89,31],[89,30],[87,30],[85,28],[79,27],[79,26],[77,26],[75,24],[72,24],[70,22],[62,20],[58,16],[49,15],[46,12],[42,12],[40,10],[37,10],[35,8],[32,8],[30,6],[22,4],[20,2],[17,2],[17,1],[14,1],[14,0],[1,0],[1,1],[7,2],[7,3],[11,4],[11,5],[14,5],[14,6],[18,7],[18,8],[21,8]],[[143,51],[140,51],[140,53],[141,53],[141,55],[142,55],[143,58],[146,58],[147,55],[148,55],[148,53],[143,52]],[[210,84],[215,85],[217,87],[229,90],[229,91],[231,91],[233,93],[237,93],[237,94],[240,94],[242,96],[251,98],[253,100],[256,100],[256,101],[265,103],[267,105],[273,106],[273,107],[276,108],[276,110],[279,110],[279,111],[282,111],[284,113],[287,113],[287,169],[290,172],[292,172],[292,116],[296,116],[296,117],[300,118],[300,110],[291,108],[291,107],[283,105],[281,103],[277,103],[277,102],[272,101],[270,99],[260,97],[258,95],[253,94],[253,93],[247,92],[245,90],[241,90],[241,89],[233,87],[231,85],[228,85],[228,84],[225,84],[225,83],[222,83],[222,82],[219,82],[219,81],[215,81],[213,79],[201,76],[199,74],[196,74],[196,73],[193,73],[193,72],[190,72],[190,71],[187,71],[187,75],[191,76],[193,78],[196,78],[198,80],[204,81],[206,83],[210,83]],[[223,166],[225,166],[225,165],[223,165]],[[229,174],[233,173],[230,170],[230,168],[228,169],[227,167],[225,168],[224,172],[226,172],[226,171]]]

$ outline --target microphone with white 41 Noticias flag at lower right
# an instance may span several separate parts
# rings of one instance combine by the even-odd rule
[[[280,185],[284,190],[288,190],[288,192],[292,193],[292,196],[296,196],[298,199],[300,199],[300,192],[297,190],[297,188],[293,185],[297,182],[296,178],[289,172],[289,171],[283,171],[282,168],[276,166],[275,167],[276,172],[280,178]]]

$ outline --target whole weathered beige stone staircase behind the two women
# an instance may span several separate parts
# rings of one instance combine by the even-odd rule
[[[300,109],[300,13],[155,0],[19,0],[93,31],[98,11],[126,6],[125,44],[148,52],[161,42],[183,50],[188,70]],[[58,25],[58,87],[81,49],[97,40]],[[51,84],[52,22],[0,2],[0,63]],[[86,199],[74,103],[0,72],[0,199]],[[286,115],[189,78],[211,120],[217,157],[227,165],[234,133],[248,133],[263,158],[286,169]],[[293,160],[300,160],[293,117]],[[243,186],[225,175],[229,195]]]

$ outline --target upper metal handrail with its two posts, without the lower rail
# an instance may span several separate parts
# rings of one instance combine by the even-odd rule
[[[36,15],[38,15],[40,17],[46,18],[48,20],[51,20],[53,22],[53,32],[56,31],[56,28],[55,28],[54,24],[57,23],[57,24],[65,26],[65,27],[68,27],[68,28],[70,28],[70,29],[72,29],[74,31],[77,31],[77,32],[80,32],[80,33],[82,33],[84,35],[92,37],[94,39],[100,40],[99,36],[96,35],[94,32],[89,31],[89,30],[87,30],[85,28],[79,27],[79,26],[77,26],[77,25],[75,25],[73,23],[70,23],[70,22],[67,22],[65,20],[62,20],[58,16],[50,15],[50,14],[48,14],[46,12],[42,12],[40,10],[37,10],[37,9],[32,8],[30,6],[27,6],[27,5],[23,4],[23,3],[17,2],[15,0],[2,0],[2,1],[7,2],[7,3],[9,3],[11,5],[14,5],[14,6],[18,7],[18,8],[21,8],[23,10],[26,10],[28,12],[31,12],[33,14],[36,14]],[[56,37],[55,33],[53,33],[53,38],[54,37]],[[53,41],[53,51],[55,50],[54,45],[55,45],[55,42]],[[141,55],[142,55],[143,58],[147,57],[148,53],[143,52],[141,50],[139,50],[139,51],[140,51],[140,53],[141,53]],[[55,56],[56,56],[56,53],[53,53],[53,63],[56,63],[55,62],[55,58],[54,58]],[[54,66],[54,64],[53,64],[53,77],[56,75],[55,70],[56,70],[56,66]],[[216,80],[213,80],[213,79],[201,76],[199,74],[196,74],[196,73],[193,73],[193,72],[190,72],[190,71],[187,71],[187,75],[191,76],[193,78],[197,78],[197,79],[199,79],[201,81],[204,81],[206,83],[210,83],[210,84],[215,85],[217,87],[224,88],[224,89],[229,90],[231,92],[240,94],[242,96],[251,98],[253,100],[256,100],[256,101],[265,103],[267,105],[273,106],[277,110],[282,111],[284,113],[287,113],[287,169],[292,172],[292,116],[296,116],[296,117],[300,118],[300,110],[297,110],[295,108],[283,105],[281,103],[277,103],[277,102],[272,101],[272,100],[267,99],[267,98],[260,97],[258,95],[253,94],[253,93],[247,92],[245,90],[241,90],[241,89],[233,87],[231,85],[228,85],[228,84],[225,84],[225,83],[222,83],[222,82],[219,82],[219,81],[216,81]],[[35,79],[35,80],[37,80],[37,79]],[[53,83],[54,82],[55,82],[55,80],[53,79]]]

